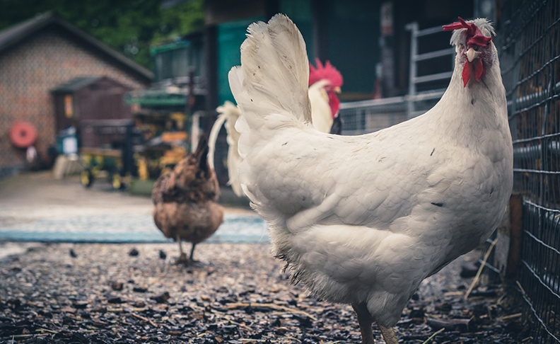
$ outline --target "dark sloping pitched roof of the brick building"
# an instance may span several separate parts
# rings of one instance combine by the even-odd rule
[[[105,55],[106,57],[109,57],[118,64],[121,64],[127,69],[134,71],[136,74],[146,79],[147,82],[153,79],[153,73],[150,70],[142,67],[141,65],[132,61],[132,59],[129,59],[116,50],[113,50],[108,45],[105,45],[103,42],[100,42],[99,40],[93,38],[93,36],[89,35],[88,33],[85,33],[82,30],[76,28],[76,26],[72,25],[71,23],[64,21],[62,18],[59,18],[52,12],[47,12],[39,16],[35,16],[35,18],[30,18],[28,19],[28,21],[24,21],[23,23],[19,23],[1,30],[0,54],[18,44],[18,42],[21,42],[21,40],[23,40],[24,38],[27,38],[30,35],[34,35],[39,30],[44,29],[48,25],[58,25],[60,28],[63,28],[67,32],[74,35],[76,38],[82,40],[88,45],[91,45],[96,50],[103,53],[103,55]]]

